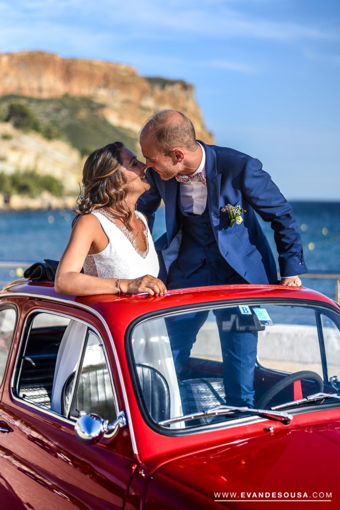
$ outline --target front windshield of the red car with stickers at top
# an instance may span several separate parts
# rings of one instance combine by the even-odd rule
[[[245,301],[176,311],[143,320],[131,340],[141,408],[169,430],[249,419],[286,403],[289,412],[340,405],[340,314],[323,305]],[[319,393],[329,396],[298,403]],[[235,410],[206,413],[221,406]]]

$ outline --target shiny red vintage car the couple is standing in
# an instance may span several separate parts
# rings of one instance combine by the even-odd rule
[[[197,316],[179,372],[169,331],[190,335]],[[226,404],[222,337],[245,333],[254,408]],[[1,509],[338,508],[339,376],[340,307],[308,289],[79,298],[13,283],[0,292]]]

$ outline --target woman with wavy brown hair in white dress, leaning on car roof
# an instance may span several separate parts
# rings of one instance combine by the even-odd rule
[[[136,202],[150,188],[146,165],[121,142],[90,154],[83,170],[78,216],[58,265],[62,294],[166,293],[158,257]],[[82,268],[84,273],[81,273]]]

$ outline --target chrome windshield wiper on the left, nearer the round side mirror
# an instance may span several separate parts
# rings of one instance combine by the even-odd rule
[[[232,407],[230,405],[219,405],[218,407],[211,407],[205,411],[198,413],[192,413],[184,416],[177,416],[176,418],[170,418],[169,420],[160,421],[159,425],[171,425],[172,423],[179,423],[180,421],[196,420],[197,418],[205,418],[207,416],[219,416],[227,415],[232,413],[250,413],[260,416],[266,416],[266,418],[272,418],[288,425],[292,420],[293,416],[284,413],[282,411],[272,411],[268,409],[250,409],[249,407]]]

